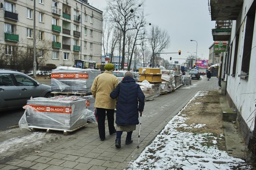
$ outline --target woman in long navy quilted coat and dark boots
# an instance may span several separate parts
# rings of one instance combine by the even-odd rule
[[[118,98],[115,146],[120,148],[123,132],[127,132],[125,144],[128,145],[133,142],[131,139],[132,132],[136,130],[136,125],[139,124],[139,112],[143,112],[145,96],[139,84],[135,83],[132,72],[127,71],[122,82],[111,92],[110,97],[112,99]]]

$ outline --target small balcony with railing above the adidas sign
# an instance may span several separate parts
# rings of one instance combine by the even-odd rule
[[[215,29],[212,29],[214,41],[228,41],[231,35],[232,20],[216,21]]]

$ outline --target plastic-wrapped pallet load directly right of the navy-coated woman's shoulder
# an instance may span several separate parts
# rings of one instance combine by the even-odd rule
[[[145,95],[145,100],[153,100],[154,99],[154,94],[155,94],[155,89],[154,89],[154,84],[150,84],[148,81],[144,80],[142,82],[137,82],[137,84],[140,85],[140,88]]]

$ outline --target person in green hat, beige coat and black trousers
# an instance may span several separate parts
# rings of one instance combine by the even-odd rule
[[[112,99],[109,94],[115,89],[119,81],[113,75],[114,65],[108,63],[104,66],[105,71],[99,74],[93,81],[91,86],[91,93],[95,97],[94,107],[98,120],[98,130],[100,140],[105,140],[105,117],[108,118],[109,134],[116,133],[114,126],[114,109],[116,106],[116,99]]]

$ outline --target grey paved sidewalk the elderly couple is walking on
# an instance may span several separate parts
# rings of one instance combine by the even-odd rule
[[[60,131],[46,134],[45,130],[31,133],[13,129],[1,132],[0,169],[125,169],[127,163],[139,156],[198,90],[218,89],[217,78],[206,81],[203,76],[200,80],[193,80],[191,86],[182,86],[175,92],[146,101],[139,149],[139,127],[133,131],[133,143],[130,145],[125,145],[126,133],[123,133],[119,149],[115,147],[115,134],[106,133],[105,141],[100,141],[98,126],[94,123],[66,136]],[[19,143],[19,140],[27,142]]]

